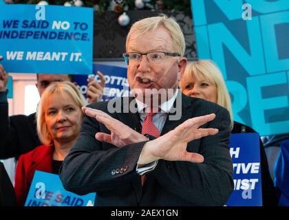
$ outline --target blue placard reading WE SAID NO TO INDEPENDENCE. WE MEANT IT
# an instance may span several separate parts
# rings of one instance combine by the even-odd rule
[[[7,72],[92,74],[93,9],[1,5],[0,55]]]

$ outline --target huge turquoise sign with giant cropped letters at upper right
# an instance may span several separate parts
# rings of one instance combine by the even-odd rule
[[[289,1],[191,0],[199,59],[220,67],[234,118],[289,133]]]

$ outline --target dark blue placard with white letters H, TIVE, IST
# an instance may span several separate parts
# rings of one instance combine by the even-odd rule
[[[259,134],[232,134],[229,146],[234,191],[226,206],[262,206]]]

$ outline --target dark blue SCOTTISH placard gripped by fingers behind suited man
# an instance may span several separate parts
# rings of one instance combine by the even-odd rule
[[[100,71],[105,75],[105,89],[102,100],[111,100],[114,97],[129,96],[129,83],[127,81],[127,68],[116,67],[111,65],[94,64],[94,73]],[[86,97],[87,77],[74,76],[74,82],[77,83],[78,89]],[[94,75],[96,80],[99,76]]]

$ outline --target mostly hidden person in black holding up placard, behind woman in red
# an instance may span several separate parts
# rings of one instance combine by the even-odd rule
[[[87,85],[89,103],[97,102],[103,94],[105,77],[100,72],[98,75],[101,79],[100,83],[89,78]],[[72,80],[72,75],[68,74],[37,74],[36,87],[41,96],[50,83]],[[41,145],[36,132],[36,113],[28,116],[8,116],[7,83],[8,73],[0,64],[0,159],[19,157],[19,155],[32,151],[36,146]]]

